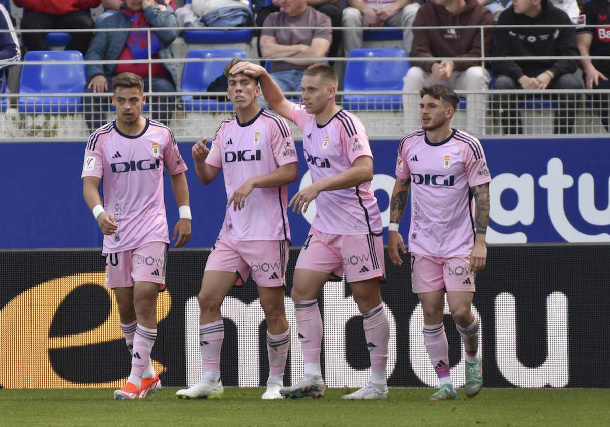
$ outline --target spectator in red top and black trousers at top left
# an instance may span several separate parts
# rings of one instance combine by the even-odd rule
[[[22,30],[70,30],[93,29],[91,7],[98,7],[100,0],[15,0],[23,7]],[[48,51],[46,31],[24,32],[21,36],[29,51]],[[93,32],[71,32],[72,38],[66,51],[87,52]]]

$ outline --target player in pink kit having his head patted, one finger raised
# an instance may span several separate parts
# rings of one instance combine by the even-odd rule
[[[288,124],[258,106],[257,79],[243,73],[229,74],[237,63],[243,60],[234,59],[224,69],[235,115],[218,126],[209,149],[205,138],[192,148],[199,180],[210,184],[222,170],[229,201],[198,295],[203,373],[197,384],[179,390],[178,397],[221,397],[224,326],[220,306],[231,288],[243,285],[251,273],[267,318],[270,373],[262,398],[282,398],[279,390],[290,345],[284,312],[290,244],[287,184],[298,179],[298,157]]]

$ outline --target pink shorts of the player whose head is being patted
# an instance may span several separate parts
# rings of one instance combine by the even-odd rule
[[[287,263],[287,240],[237,241],[218,236],[207,258],[206,271],[237,273],[237,286],[252,274],[257,285],[274,287],[285,284]]]

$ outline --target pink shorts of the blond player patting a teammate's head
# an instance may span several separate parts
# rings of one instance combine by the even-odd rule
[[[295,268],[331,273],[348,282],[386,276],[382,237],[372,234],[329,234],[309,229]]]

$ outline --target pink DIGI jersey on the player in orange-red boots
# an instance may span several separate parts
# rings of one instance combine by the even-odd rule
[[[102,179],[104,210],[118,230],[104,235],[103,253],[135,249],[149,242],[169,243],[163,167],[171,175],[187,170],[169,127],[146,120],[140,135],[125,135],[112,121],[91,134],[82,178]]]

